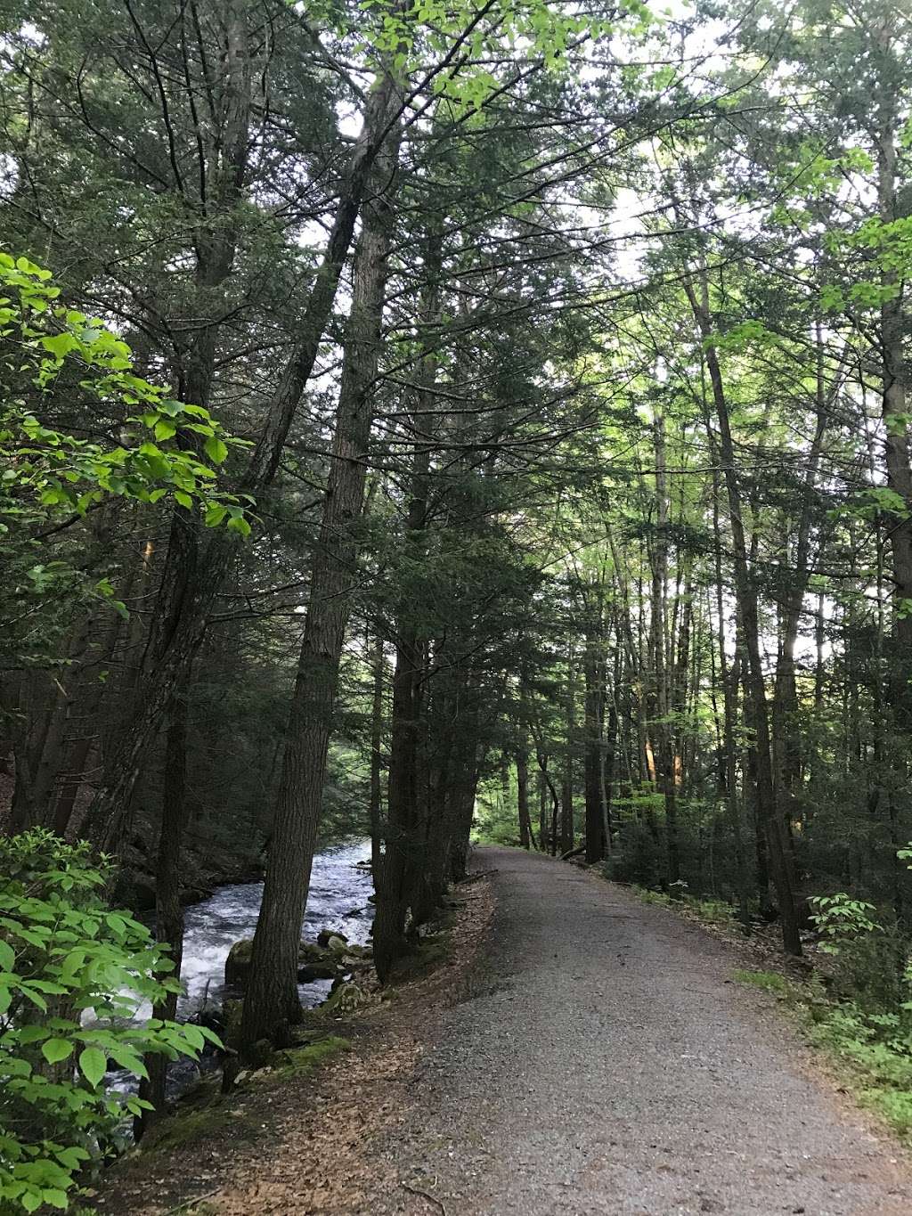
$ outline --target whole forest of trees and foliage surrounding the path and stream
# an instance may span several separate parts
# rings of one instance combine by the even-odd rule
[[[340,840],[381,985],[478,840],[851,939],[908,1093],[908,0],[4,13],[0,1210],[221,884],[293,1041]]]

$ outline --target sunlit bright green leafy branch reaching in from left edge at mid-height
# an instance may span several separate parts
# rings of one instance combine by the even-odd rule
[[[34,523],[61,511],[85,514],[109,495],[151,503],[170,495],[186,510],[202,508],[207,527],[226,520],[249,531],[238,500],[214,488],[214,466],[238,440],[208,410],[137,376],[126,343],[57,303],[49,270],[0,252],[0,529],[9,530],[11,517]],[[116,421],[122,441],[49,426],[64,396]]]

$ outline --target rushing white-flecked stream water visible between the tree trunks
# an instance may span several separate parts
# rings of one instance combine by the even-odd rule
[[[373,918],[373,880],[359,862],[370,861],[370,840],[337,845],[314,857],[310,895],[304,919],[304,940],[315,940],[321,929],[336,929],[349,941],[365,945]],[[184,961],[180,975],[184,996],[178,1003],[178,1017],[187,1019],[204,1009],[218,1009],[225,995],[225,959],[236,941],[252,938],[263,900],[263,883],[240,883],[220,886],[208,900],[185,910]],[[302,1004],[320,1004],[330,995],[330,980],[302,984]],[[136,1009],[136,1020],[150,1018],[151,1006]],[[179,1060],[169,1065],[168,1091],[171,1097],[192,1083],[197,1065]],[[130,1074],[112,1070],[112,1090],[129,1092],[136,1081]]]

